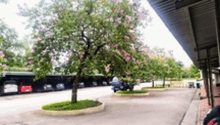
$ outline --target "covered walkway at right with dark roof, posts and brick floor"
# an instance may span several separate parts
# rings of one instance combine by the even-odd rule
[[[149,0],[159,17],[202,70],[199,117],[220,105],[220,0]],[[214,81],[213,81],[214,79]]]

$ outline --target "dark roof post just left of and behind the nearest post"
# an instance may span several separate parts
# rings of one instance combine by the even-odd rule
[[[211,105],[211,103],[210,103],[210,96],[209,96],[208,73],[207,73],[207,66],[206,65],[205,65],[205,67],[202,70],[202,74],[203,74],[203,81],[204,81],[204,86],[205,86],[205,90],[206,90],[206,95],[207,95],[207,98],[208,98],[208,104]]]

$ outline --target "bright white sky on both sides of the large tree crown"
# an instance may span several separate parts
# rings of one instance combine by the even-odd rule
[[[3,18],[4,22],[6,22],[11,28],[15,28],[19,34],[19,39],[22,39],[26,34],[31,34],[31,30],[26,30],[25,24],[23,24],[27,19],[17,15],[19,12],[17,4],[23,6],[23,4],[26,3],[28,7],[31,7],[39,1],[40,0],[11,0],[7,5],[0,4],[0,18]],[[166,51],[173,50],[174,57],[178,61],[182,61],[185,67],[189,67],[192,64],[191,59],[164,25],[154,9],[146,1],[142,2],[142,6],[149,10],[152,18],[149,25],[145,29],[141,29],[144,40],[143,42],[150,47],[157,46],[164,48]]]

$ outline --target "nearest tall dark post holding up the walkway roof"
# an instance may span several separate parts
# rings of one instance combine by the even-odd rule
[[[210,95],[211,95],[211,106],[214,107],[214,97],[213,97],[213,85],[212,85],[212,67],[211,67],[211,58],[210,58],[210,49],[207,49],[207,58],[208,58],[208,69],[209,69],[209,84],[210,84]]]

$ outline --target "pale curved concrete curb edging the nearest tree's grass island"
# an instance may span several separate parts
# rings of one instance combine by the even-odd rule
[[[75,116],[75,115],[85,115],[85,114],[100,112],[104,110],[104,108],[105,108],[105,103],[102,103],[97,107],[91,107],[80,110],[71,110],[71,111],[49,111],[49,110],[41,109],[41,114],[47,116]]]

